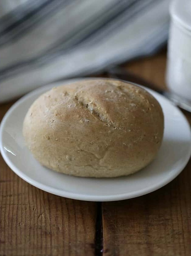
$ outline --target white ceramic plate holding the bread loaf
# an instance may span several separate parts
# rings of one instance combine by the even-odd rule
[[[77,79],[65,81],[69,83]],[[79,79],[78,79],[79,80]],[[88,201],[114,201],[138,197],[172,181],[191,154],[191,132],[182,112],[157,92],[148,90],[164,112],[164,139],[157,158],[143,170],[120,178],[80,178],[41,166],[25,147],[22,125],[25,114],[42,93],[62,83],[47,85],[19,99],[5,114],[0,127],[0,150],[5,162],[21,178],[52,194]]]

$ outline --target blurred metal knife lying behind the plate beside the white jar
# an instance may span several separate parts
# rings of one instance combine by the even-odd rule
[[[136,83],[139,85],[143,85],[147,88],[150,88],[150,89],[160,93],[167,99],[169,99],[175,106],[179,106],[180,108],[191,112],[191,101],[189,101],[189,100],[183,98],[182,96],[179,96],[173,92],[161,90],[161,89],[157,88],[157,86],[155,84],[153,84],[149,81],[146,81],[145,79],[143,79],[135,74],[132,74],[131,72],[127,71],[126,69],[123,69],[120,67],[111,67],[108,70],[106,70],[106,73],[107,73],[108,77],[110,77],[110,78],[126,80],[129,82],[133,82],[133,83]]]

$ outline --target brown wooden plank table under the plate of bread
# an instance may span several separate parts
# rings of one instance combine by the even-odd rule
[[[163,88],[165,63],[162,52],[125,67]],[[0,120],[11,105],[0,106]],[[191,255],[191,161],[153,193],[96,203],[37,189],[0,156],[0,207],[1,256]]]

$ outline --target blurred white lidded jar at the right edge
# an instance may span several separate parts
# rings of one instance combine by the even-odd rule
[[[166,82],[170,91],[191,100],[191,0],[170,5]]]

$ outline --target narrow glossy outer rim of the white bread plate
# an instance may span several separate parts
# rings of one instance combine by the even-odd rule
[[[85,80],[93,80],[93,79],[102,79],[102,78],[85,78]],[[110,78],[105,78],[105,79],[110,79]],[[142,190],[137,190],[134,192],[128,192],[128,193],[122,193],[122,194],[115,194],[115,195],[85,195],[85,194],[79,194],[79,193],[73,193],[73,192],[68,192],[68,191],[64,191],[64,190],[60,190],[60,189],[56,189],[53,188],[51,186],[47,186],[42,184],[41,182],[35,181],[33,178],[30,178],[29,176],[27,176],[25,173],[23,173],[23,171],[19,170],[15,164],[13,164],[13,162],[9,159],[9,157],[6,155],[4,149],[3,149],[3,143],[2,143],[2,135],[3,135],[3,128],[5,126],[6,120],[9,117],[9,115],[12,113],[12,111],[14,109],[17,108],[18,105],[22,104],[23,101],[25,101],[26,99],[28,99],[30,96],[35,95],[36,93],[40,93],[41,91],[44,91],[44,89],[47,87],[51,88],[54,86],[59,86],[62,85],[63,83],[67,83],[67,82],[72,82],[72,81],[79,81],[79,80],[84,80],[84,78],[73,78],[73,79],[67,79],[61,82],[54,82],[45,86],[42,86],[40,88],[37,88],[29,93],[27,93],[26,95],[24,95],[23,97],[21,97],[19,100],[17,100],[10,108],[9,110],[5,113],[4,117],[2,118],[1,124],[0,124],[0,152],[2,154],[3,159],[5,160],[6,164],[9,166],[9,168],[11,168],[11,170],[13,172],[16,173],[16,175],[18,175],[20,178],[22,178],[24,181],[28,182],[29,184],[37,187],[38,189],[42,189],[48,193],[52,193],[61,197],[67,197],[67,198],[71,198],[71,199],[76,199],[76,200],[85,200],[85,201],[117,201],[117,200],[125,200],[125,199],[130,199],[130,198],[135,198],[135,197],[139,197],[139,196],[143,196],[145,194],[154,192],[157,189],[160,189],[161,187],[167,185],[169,182],[171,182],[173,179],[175,179],[181,172],[182,170],[185,168],[186,164],[188,163],[189,159],[190,159],[190,155],[191,155],[191,129],[190,129],[190,125],[188,120],[186,119],[186,117],[184,116],[184,114],[181,112],[181,110],[179,110],[178,107],[174,106],[168,99],[166,99],[164,96],[158,94],[157,92],[146,88],[149,92],[154,92],[156,93],[158,96],[162,97],[163,99],[165,99],[166,101],[168,101],[168,103],[170,103],[173,107],[176,108],[176,110],[178,110],[179,114],[181,115],[181,117],[184,119],[184,121],[186,122],[187,128],[189,128],[189,140],[190,140],[190,146],[189,146],[189,150],[187,152],[187,155],[185,156],[185,160],[184,162],[181,163],[181,166],[179,167],[179,171],[176,171],[175,173],[172,173],[172,175],[165,179],[162,182],[159,182],[159,184],[153,185],[151,187],[144,188]],[[118,80],[118,79],[117,79]],[[125,82],[129,82],[129,81],[125,81]],[[132,82],[129,82],[131,84],[134,85],[138,85]],[[140,85],[138,85],[140,86]],[[143,86],[141,86],[143,87]],[[145,87],[143,87],[145,88]],[[78,177],[81,178],[81,177]],[[83,177],[84,178],[84,177]]]

